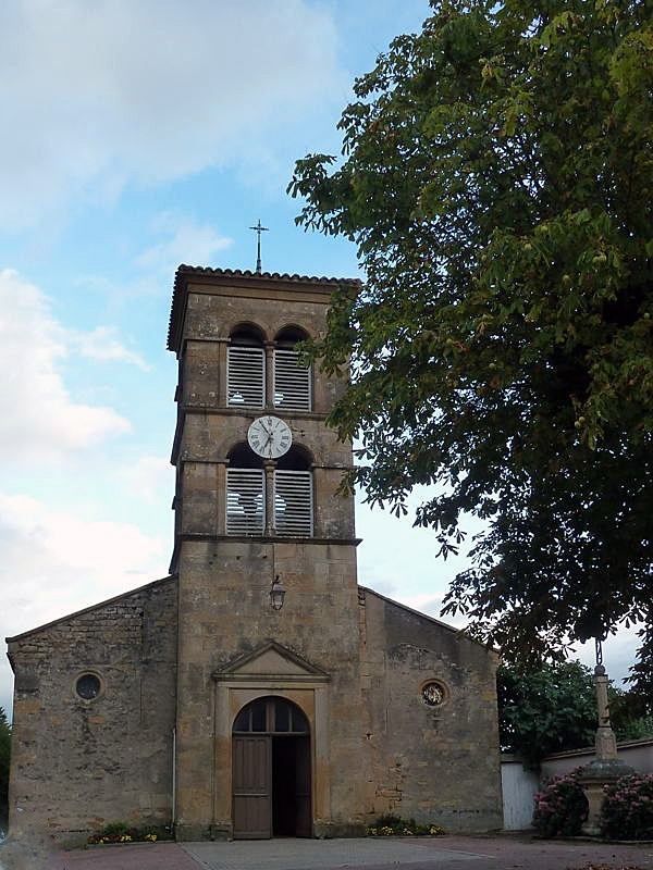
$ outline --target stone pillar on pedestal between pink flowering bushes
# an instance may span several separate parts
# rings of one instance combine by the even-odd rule
[[[599,728],[594,745],[596,758],[586,765],[580,774],[580,784],[588,799],[589,810],[582,833],[588,836],[599,836],[601,826],[601,808],[603,807],[605,785],[609,785],[621,776],[632,773],[632,768],[625,765],[617,757],[617,741],[609,722],[609,706],[607,703],[608,679],[603,664],[594,668],[594,685],[596,686],[596,711]]]

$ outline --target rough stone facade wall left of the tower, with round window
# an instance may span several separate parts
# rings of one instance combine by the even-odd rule
[[[14,837],[170,823],[176,593],[169,577],[9,638]],[[87,671],[90,701],[75,692]]]

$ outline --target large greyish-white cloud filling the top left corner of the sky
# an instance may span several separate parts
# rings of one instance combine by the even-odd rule
[[[307,0],[0,4],[0,225],[269,146],[344,83]]]

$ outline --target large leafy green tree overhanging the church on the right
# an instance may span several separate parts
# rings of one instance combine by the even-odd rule
[[[444,557],[485,522],[445,614],[522,663],[639,622],[651,689],[653,7],[433,1],[354,90],[288,188],[367,275],[311,349],[352,359],[349,483],[435,484]]]

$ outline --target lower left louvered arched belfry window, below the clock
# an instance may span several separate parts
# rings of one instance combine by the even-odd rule
[[[266,531],[263,460],[247,444],[229,455],[226,469],[226,534],[262,535]]]

